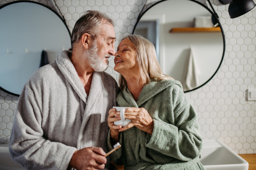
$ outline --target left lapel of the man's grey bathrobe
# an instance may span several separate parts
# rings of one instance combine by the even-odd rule
[[[66,79],[70,82],[79,97],[83,100],[84,103],[87,104],[87,94],[85,93],[84,86],[80,81],[76,69],[69,58],[71,54],[71,51],[62,51],[61,54],[56,58],[56,63],[61,73],[64,74],[64,77],[67,77]]]

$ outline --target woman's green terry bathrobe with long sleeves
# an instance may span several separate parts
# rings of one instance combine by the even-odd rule
[[[180,82],[159,80],[145,85],[135,102],[128,88],[119,92],[120,107],[145,108],[154,121],[152,135],[132,127],[120,133],[122,147],[110,156],[125,170],[206,170],[200,159],[203,141],[195,109]],[[110,130],[108,149],[112,150]]]

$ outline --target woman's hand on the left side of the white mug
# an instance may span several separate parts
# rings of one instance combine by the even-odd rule
[[[119,129],[122,128],[121,125],[116,126],[114,125],[115,121],[119,121],[121,120],[120,116],[119,117],[114,117],[116,115],[116,109],[112,108],[110,109],[110,111],[108,112],[108,127],[110,128],[110,133],[111,133],[111,138],[113,143],[117,143],[119,142]]]

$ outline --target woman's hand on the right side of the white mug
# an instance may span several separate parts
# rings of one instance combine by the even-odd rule
[[[116,112],[115,116],[120,118],[120,112]],[[153,133],[154,122],[144,108],[126,108],[125,119],[131,119],[131,123],[119,129],[119,132],[135,126],[146,133]]]

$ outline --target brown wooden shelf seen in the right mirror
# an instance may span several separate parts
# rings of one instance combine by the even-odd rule
[[[195,27],[190,27],[190,28],[172,28],[170,33],[173,32],[221,32],[220,27],[212,27],[212,28],[195,28]]]

